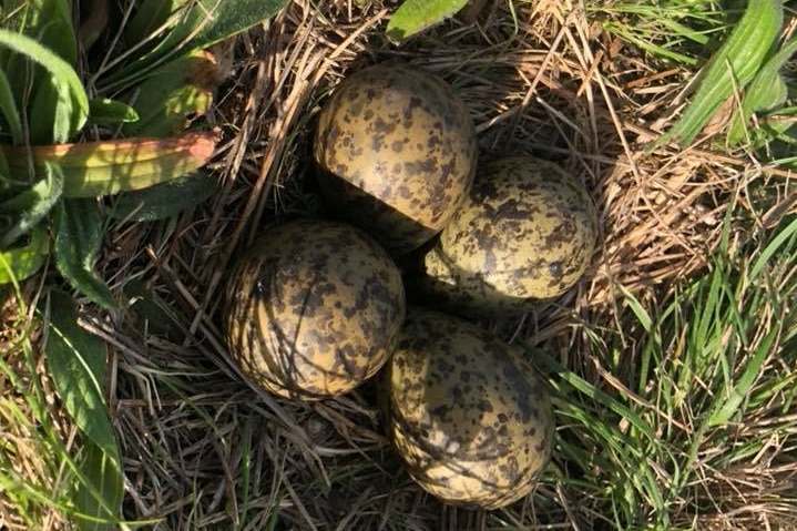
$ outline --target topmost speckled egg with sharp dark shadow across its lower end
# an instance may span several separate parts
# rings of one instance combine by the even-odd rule
[[[441,78],[403,63],[346,78],[314,139],[330,208],[405,254],[442,229],[464,200],[477,161],[473,121]]]

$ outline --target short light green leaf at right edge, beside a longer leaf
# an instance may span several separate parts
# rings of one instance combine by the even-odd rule
[[[742,99],[742,109],[736,112],[730,129],[728,142],[737,144],[745,140],[745,126],[754,113],[768,111],[783,105],[788,98],[788,88],[780,75],[780,69],[797,52],[797,38],[787,42],[773,55],[756,74]],[[788,126],[788,123],[787,125]]]

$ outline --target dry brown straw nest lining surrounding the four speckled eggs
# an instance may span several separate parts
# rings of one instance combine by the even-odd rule
[[[671,123],[685,73],[648,69],[558,1],[517,2],[517,21],[505,2],[488,3],[476,23],[453,20],[397,49],[382,37],[389,11],[379,2],[296,1],[218,50],[232,75],[206,119],[224,132],[214,166],[222,191],[176,226],[114,227],[101,262],[120,289],[142,280],[163,315],[145,321],[133,305],[90,325],[112,347],[126,517],[163,518],[155,529],[164,530],[232,529],[245,513],[246,529],[260,529],[278,507],[285,529],[483,523],[484,514],[442,507],[399,473],[369,386],[311,406],[259,394],[227,362],[217,326],[231,257],[268,224],[318,212],[306,178],[314,119],[329,90],[366,64],[402,60],[441,74],[472,112],[483,160],[537,154],[593,191],[603,234],[586,279],[497,329],[572,346],[574,320],[611,318],[617,286],[652,294],[704,265],[721,197],[747,166],[697,150],[644,153]],[[568,521],[566,498],[578,493],[543,486],[539,494],[544,503],[520,502],[504,518]]]

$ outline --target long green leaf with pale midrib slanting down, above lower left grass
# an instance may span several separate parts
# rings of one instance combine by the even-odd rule
[[[105,344],[78,325],[74,299],[51,289],[47,320],[48,368],[70,417],[85,436],[108,455],[116,453],[116,438],[105,401],[108,368]]]

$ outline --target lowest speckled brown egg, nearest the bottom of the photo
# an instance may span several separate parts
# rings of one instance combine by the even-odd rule
[[[389,435],[423,489],[484,509],[532,491],[554,425],[521,350],[466,320],[410,307],[386,374]]]

